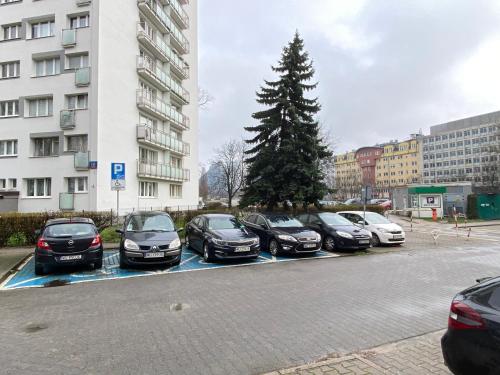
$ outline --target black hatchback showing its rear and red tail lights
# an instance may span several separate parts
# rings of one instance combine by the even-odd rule
[[[35,274],[68,265],[102,268],[101,236],[91,219],[51,219],[36,233]]]

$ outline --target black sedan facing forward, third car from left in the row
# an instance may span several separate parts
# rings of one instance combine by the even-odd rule
[[[206,262],[215,259],[256,259],[259,237],[249,232],[233,215],[196,216],[186,226],[186,243]]]

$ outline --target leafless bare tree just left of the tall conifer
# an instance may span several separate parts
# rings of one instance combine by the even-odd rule
[[[215,159],[212,164],[219,170],[215,185],[216,188],[227,195],[228,207],[236,194],[241,190],[245,177],[244,163],[245,143],[235,139],[223,144],[215,150]]]

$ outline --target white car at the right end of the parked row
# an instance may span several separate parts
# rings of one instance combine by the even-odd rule
[[[375,212],[366,212],[363,221],[363,211],[342,211],[338,212],[349,221],[357,224],[372,233],[373,246],[380,244],[403,244],[405,242],[405,232],[401,226],[387,220]]]

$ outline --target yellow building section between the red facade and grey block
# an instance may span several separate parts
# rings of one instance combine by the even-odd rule
[[[384,152],[376,164],[375,184],[379,196],[389,197],[390,190],[421,181],[421,145],[418,136],[402,142],[381,145]]]

